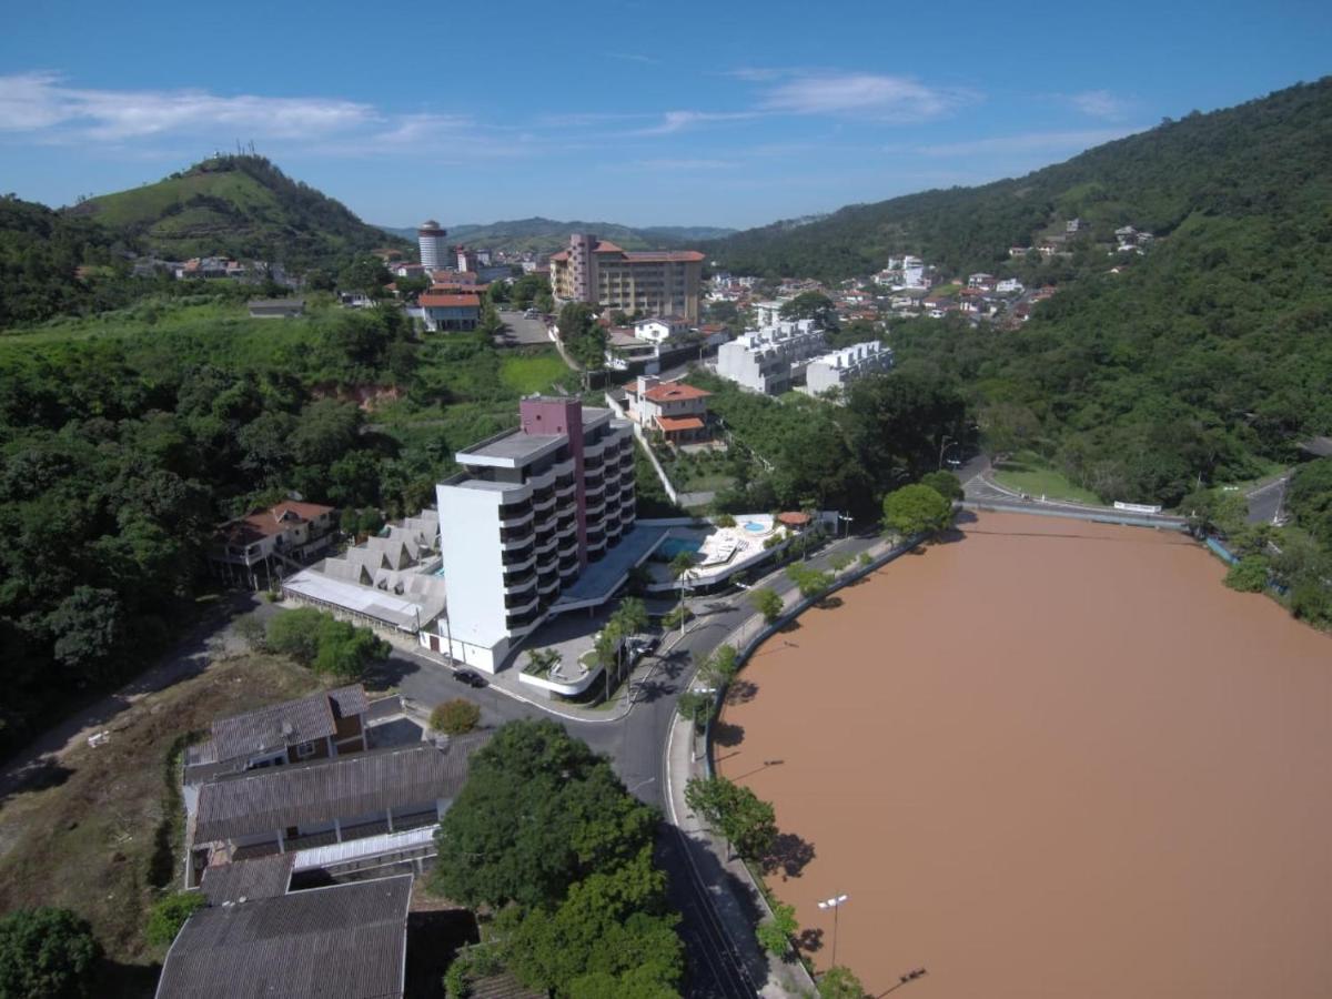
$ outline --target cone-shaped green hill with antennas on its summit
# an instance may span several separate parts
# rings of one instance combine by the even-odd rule
[[[89,198],[68,212],[173,260],[218,254],[294,269],[337,268],[358,252],[400,245],[261,156],[216,156],[156,184]]]

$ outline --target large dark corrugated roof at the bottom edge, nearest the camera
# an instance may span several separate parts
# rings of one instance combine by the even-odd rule
[[[201,908],[166,954],[157,996],[401,996],[410,899],[405,874]]]

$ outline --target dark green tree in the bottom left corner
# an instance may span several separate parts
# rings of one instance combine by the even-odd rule
[[[0,916],[0,996],[88,995],[101,946],[68,908],[20,908]]]

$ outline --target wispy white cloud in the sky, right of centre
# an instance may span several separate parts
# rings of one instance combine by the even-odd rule
[[[844,115],[908,123],[942,117],[976,100],[979,95],[972,91],[930,87],[907,76],[809,73],[766,91],[761,107],[787,115]]]

